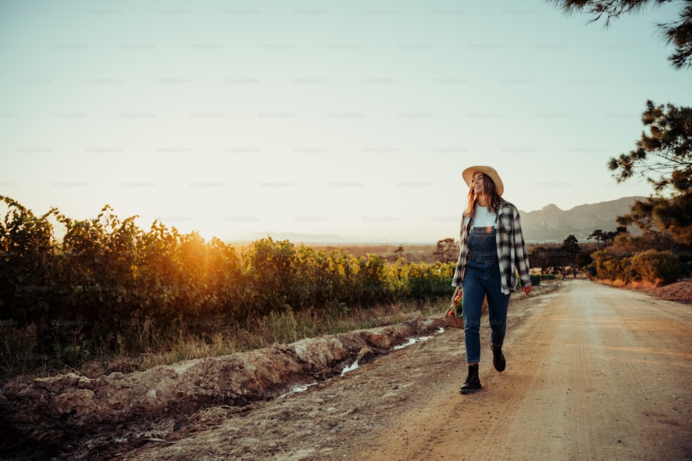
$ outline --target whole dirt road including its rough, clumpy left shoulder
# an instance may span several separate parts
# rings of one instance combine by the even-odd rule
[[[692,458],[691,305],[565,282],[511,305],[504,373],[484,323],[479,393],[459,394],[463,332],[446,330],[273,402],[210,408],[113,458]]]

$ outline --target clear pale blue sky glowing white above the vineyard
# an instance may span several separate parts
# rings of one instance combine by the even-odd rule
[[[544,1],[0,3],[0,194],[206,238],[456,237],[462,170],[523,211],[648,196],[606,162],[692,104],[655,23]],[[4,213],[4,211],[3,211]]]

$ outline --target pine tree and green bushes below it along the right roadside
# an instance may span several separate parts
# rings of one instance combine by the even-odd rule
[[[652,185],[650,197],[618,218],[637,225],[642,236],[617,232],[585,268],[597,279],[658,285],[692,269],[692,108],[648,101],[641,121],[648,133],[629,153],[610,158],[608,169],[619,182],[646,178]]]

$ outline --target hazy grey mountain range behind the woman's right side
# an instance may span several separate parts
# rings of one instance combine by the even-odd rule
[[[520,211],[522,232],[527,243],[561,243],[572,234],[579,242],[585,242],[596,229],[614,231],[615,220],[630,211],[635,200],[646,197],[623,197],[608,202],[579,205],[567,211],[556,205],[546,205],[536,211]],[[632,234],[639,234],[636,226],[628,227]]]

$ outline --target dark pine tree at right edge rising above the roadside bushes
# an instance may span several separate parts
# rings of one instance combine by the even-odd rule
[[[644,232],[667,232],[677,243],[692,240],[692,108],[646,103],[637,149],[610,158],[608,168],[622,182],[644,176],[655,196],[637,200],[621,225],[636,224]],[[651,177],[653,176],[653,178]],[[664,194],[668,196],[664,196]]]

